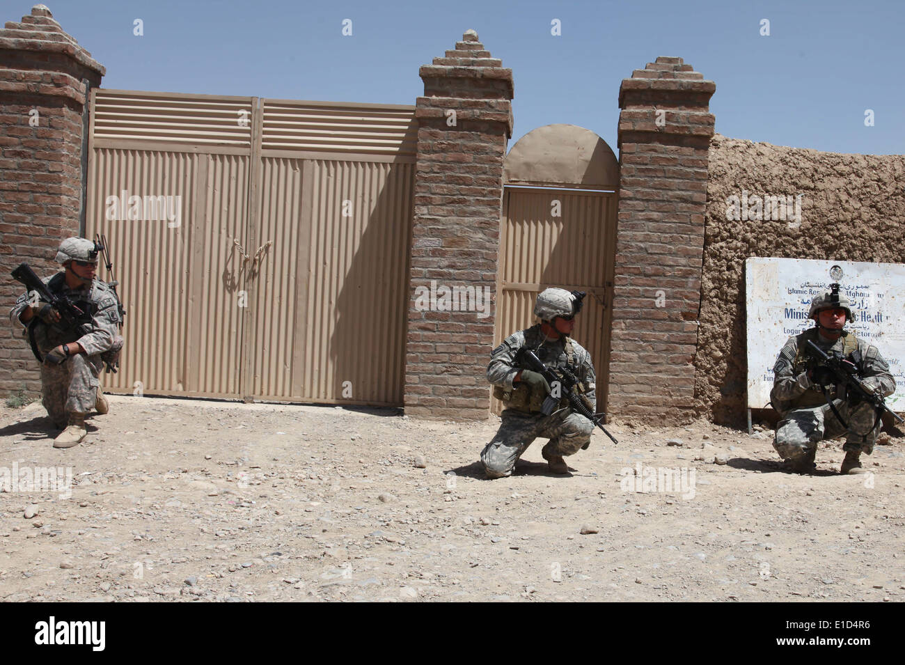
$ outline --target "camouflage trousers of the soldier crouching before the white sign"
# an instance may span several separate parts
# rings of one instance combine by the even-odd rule
[[[773,447],[784,460],[814,461],[817,442],[838,439],[845,435],[843,451],[862,451],[870,455],[877,440],[881,423],[871,404],[862,402],[850,409],[842,400],[834,400],[836,411],[849,424],[846,430],[830,410],[829,404],[809,409],[795,409],[786,413],[785,419],[776,425]],[[873,423],[877,426],[873,427]]]

